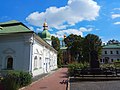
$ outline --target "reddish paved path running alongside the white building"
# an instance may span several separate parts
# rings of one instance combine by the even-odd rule
[[[67,68],[60,68],[53,74],[33,82],[21,90],[66,90],[67,70]]]

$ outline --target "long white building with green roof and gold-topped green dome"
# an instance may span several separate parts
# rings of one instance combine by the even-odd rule
[[[48,32],[45,25],[44,35]],[[56,69],[57,51],[50,38],[49,34],[43,40],[18,21],[0,23],[0,70],[27,71],[34,77]]]

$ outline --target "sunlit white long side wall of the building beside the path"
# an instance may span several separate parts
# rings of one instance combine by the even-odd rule
[[[46,43],[46,42],[44,42]],[[37,56],[38,58],[42,58],[42,67],[39,68],[39,59],[37,59],[37,69],[34,68],[34,58]],[[37,76],[43,73],[49,73],[51,70],[57,68],[57,53],[54,52],[54,50],[50,49],[46,44],[41,43],[39,40],[34,38],[33,43],[33,58],[32,58],[32,73],[33,76]],[[54,61],[53,60],[56,60]],[[53,62],[54,61],[54,62]],[[56,64],[56,65],[54,65]]]

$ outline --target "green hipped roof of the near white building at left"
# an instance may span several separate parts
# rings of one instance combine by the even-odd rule
[[[11,34],[11,33],[24,33],[24,32],[33,32],[23,23],[19,21],[8,21],[0,23],[0,35]]]

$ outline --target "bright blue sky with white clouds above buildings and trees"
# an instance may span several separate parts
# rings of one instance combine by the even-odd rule
[[[98,35],[120,41],[120,0],[1,0],[0,22],[18,20],[35,32],[46,19],[52,35]]]

